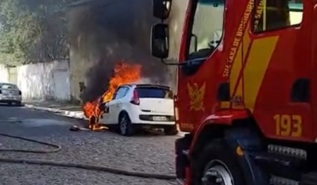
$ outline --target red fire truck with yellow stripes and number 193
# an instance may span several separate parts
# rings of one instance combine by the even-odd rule
[[[189,0],[177,63],[171,3],[154,0],[151,47],[178,68],[178,181],[317,184],[317,0]]]

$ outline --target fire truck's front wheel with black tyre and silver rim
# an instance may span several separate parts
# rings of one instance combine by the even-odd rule
[[[244,185],[236,155],[224,141],[205,146],[192,164],[195,185]]]

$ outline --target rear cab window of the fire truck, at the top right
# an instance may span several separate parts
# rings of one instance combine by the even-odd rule
[[[301,24],[302,0],[256,0],[253,32],[264,32]]]

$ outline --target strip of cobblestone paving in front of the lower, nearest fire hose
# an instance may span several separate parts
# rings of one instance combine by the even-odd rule
[[[0,164],[2,185],[176,185],[176,182],[110,173],[23,164]]]

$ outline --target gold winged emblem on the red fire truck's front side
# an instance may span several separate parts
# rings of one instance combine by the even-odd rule
[[[188,87],[188,94],[190,97],[190,103],[191,103],[191,110],[204,111],[204,95],[205,95],[205,88],[206,88],[206,82],[203,86],[198,87],[197,83],[194,83],[193,86],[191,86],[189,83],[187,83]]]

